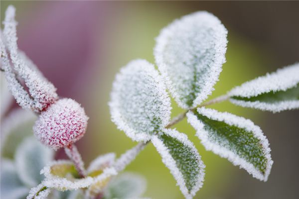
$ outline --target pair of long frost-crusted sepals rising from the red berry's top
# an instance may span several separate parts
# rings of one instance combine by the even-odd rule
[[[47,109],[50,104],[54,103],[58,96],[56,94],[56,88],[48,82],[44,77],[40,76],[40,72],[36,72],[32,66],[32,62],[28,62],[28,59],[21,59],[24,56],[19,53],[17,47],[17,36],[16,36],[16,25],[17,22],[14,20],[15,8],[13,6],[8,6],[5,12],[5,19],[3,21],[3,38],[5,47],[1,45],[1,57],[3,56],[4,62],[4,71],[7,73],[6,78],[7,82],[10,85],[10,90],[12,95],[15,97],[17,102],[24,108],[32,108],[36,112],[43,111]],[[8,69],[9,60],[7,58],[6,50],[9,52],[9,57],[14,66],[14,70],[17,72],[17,75],[22,78],[25,82],[25,85],[29,89],[30,98],[28,93],[21,87],[19,83],[16,83],[12,70]],[[5,60],[4,60],[5,59]],[[7,77],[9,76],[9,77]],[[14,83],[14,84],[13,84]],[[14,87],[14,88],[12,88]]]

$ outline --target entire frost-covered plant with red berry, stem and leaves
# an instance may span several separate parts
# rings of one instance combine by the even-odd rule
[[[8,88],[21,107],[38,115],[33,127],[37,140],[54,150],[64,147],[72,160],[48,163],[41,170],[45,178],[30,190],[27,199],[46,198],[51,190],[72,191],[68,197],[73,198],[139,198],[145,190],[144,180],[119,173],[149,143],[161,155],[184,197],[192,199],[203,185],[205,165],[187,135],[171,128],[184,117],[206,150],[228,159],[254,178],[268,180],[273,160],[261,128],[249,119],[205,106],[230,100],[272,112],[299,108],[299,64],[204,102],[225,63],[227,30],[206,11],[183,16],[163,28],[156,38],[153,54],[158,70],[146,60],[133,60],[121,69],[113,83],[109,102],[112,121],[139,143],[118,159],[114,153],[101,155],[85,170],[74,142],[84,135],[88,117],[74,100],[59,99],[54,86],[18,50],[14,12],[12,6],[6,10],[0,42],[1,69]],[[172,120],[167,91],[185,109]],[[17,153],[18,161],[25,161],[26,151]],[[26,167],[22,169],[25,172]]]

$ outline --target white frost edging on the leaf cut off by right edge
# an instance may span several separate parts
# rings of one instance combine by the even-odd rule
[[[267,74],[262,77],[258,77],[254,80],[246,82],[241,86],[232,89],[228,95],[230,97],[243,97],[251,98],[257,97],[261,94],[269,92],[287,91],[288,89],[295,88],[299,84],[299,63],[287,66],[282,69],[278,69],[276,72]],[[276,102],[265,101],[247,101],[230,98],[230,101],[234,104],[257,108],[261,110],[268,110],[272,112],[279,112],[282,110],[290,110],[299,108],[299,100],[280,100]]]

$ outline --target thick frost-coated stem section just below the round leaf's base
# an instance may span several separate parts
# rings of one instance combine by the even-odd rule
[[[140,142],[132,149],[129,149],[121,155],[119,159],[116,160],[114,164],[114,168],[117,172],[124,170],[133,160],[135,160],[136,156],[145,148],[148,142]]]

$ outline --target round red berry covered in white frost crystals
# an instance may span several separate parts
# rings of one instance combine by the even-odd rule
[[[57,150],[79,140],[87,128],[84,108],[71,99],[61,99],[41,112],[33,131],[43,144]]]

